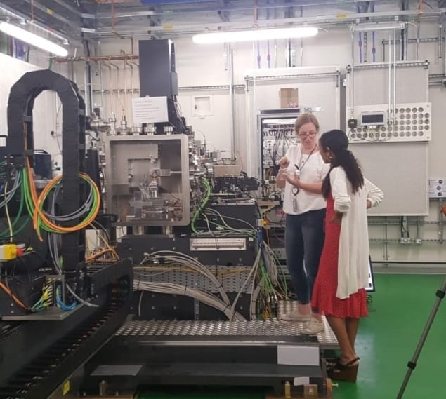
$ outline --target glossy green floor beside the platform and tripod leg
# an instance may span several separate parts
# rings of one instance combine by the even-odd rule
[[[407,372],[407,361],[426,325],[443,276],[376,275],[370,317],[358,335],[360,360],[356,384],[334,388],[334,399],[393,399]],[[147,389],[141,399],[261,399],[258,388]],[[446,398],[446,300],[440,304],[431,332],[409,380],[404,399]]]

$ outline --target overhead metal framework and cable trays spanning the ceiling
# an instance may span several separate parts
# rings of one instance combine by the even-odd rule
[[[222,3],[216,1],[190,1],[190,4],[171,4],[169,1],[159,1],[156,7],[147,4],[138,4],[127,1],[114,0],[99,4],[95,0],[84,0],[79,8],[65,4],[63,0],[22,0],[15,1],[11,6],[8,1],[0,3],[0,9],[13,11],[18,18],[24,20],[36,20],[41,25],[54,27],[61,34],[70,35],[71,39],[116,38],[120,37],[145,37],[147,38],[147,18],[150,20],[150,31],[156,37],[173,37],[181,34],[199,32],[197,26],[203,26],[209,31],[218,29],[228,30],[252,27],[252,18],[249,11],[253,11],[252,1],[237,1],[237,4]],[[256,4],[256,13],[260,18],[256,19],[256,27],[268,27],[271,21],[279,26],[294,23],[297,25],[314,25],[319,27],[346,26],[364,18],[365,12],[356,9],[359,0],[343,1],[344,5],[350,4],[350,12],[342,9],[343,18],[333,10],[329,13],[329,7],[339,7],[339,2],[333,0],[308,1],[305,4],[290,4],[286,1],[267,3],[261,1]],[[386,4],[386,1],[377,0],[376,4]],[[376,22],[400,20],[416,20],[418,18],[441,17],[445,8],[433,6],[424,9],[420,13],[416,7],[401,10],[395,3],[394,10],[374,11],[367,13],[367,18]],[[322,11],[321,10],[324,10]],[[345,7],[344,7],[345,8]],[[300,11],[300,13],[298,13]],[[268,18],[264,18],[265,13]],[[19,16],[20,15],[20,16]],[[183,23],[177,15],[188,15],[190,23]],[[285,15],[291,18],[284,18]],[[299,15],[293,17],[292,15]],[[195,21],[193,20],[195,19]],[[204,29],[204,28],[203,28]],[[202,30],[202,29],[201,29]]]

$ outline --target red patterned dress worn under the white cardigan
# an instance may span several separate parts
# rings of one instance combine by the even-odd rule
[[[327,198],[324,249],[322,250],[319,271],[313,287],[311,305],[313,309],[325,316],[336,316],[339,318],[368,316],[367,292],[364,288],[361,288],[346,299],[336,297],[341,226],[329,222],[333,215],[334,199],[330,194]]]

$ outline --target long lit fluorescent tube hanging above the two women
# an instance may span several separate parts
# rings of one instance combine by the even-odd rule
[[[292,27],[282,29],[253,29],[232,32],[215,32],[196,34],[192,37],[194,43],[232,43],[235,41],[258,41],[273,39],[292,39],[296,37],[311,37],[317,34],[315,27]]]

